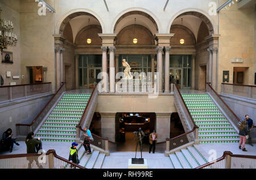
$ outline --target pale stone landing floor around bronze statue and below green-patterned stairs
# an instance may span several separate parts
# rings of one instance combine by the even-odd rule
[[[4,154],[23,154],[26,153],[26,144],[24,141],[18,141],[19,146],[14,145],[13,152],[1,152],[0,155]],[[249,144],[245,145],[245,148],[248,150],[247,152],[243,152],[241,149],[238,149],[237,143],[220,143],[220,144],[200,144],[200,148],[204,149],[206,153],[209,152],[210,149],[216,150],[216,158],[219,158],[223,155],[223,152],[230,151],[233,154],[244,154],[244,155],[253,155],[256,156],[256,144],[254,146],[250,146]],[[68,159],[69,156],[69,148],[71,147],[71,143],[60,143],[60,142],[46,142],[43,141],[43,149],[55,149],[56,154],[58,156],[64,157]],[[157,149],[157,146],[156,146]],[[84,150],[83,147],[81,150]],[[139,157],[141,154],[137,154]],[[169,157],[165,157],[164,153],[155,152],[142,153],[143,158],[147,159],[148,168],[150,169],[170,169],[172,168],[171,161]],[[104,164],[102,165],[103,169],[127,169],[128,168],[128,160],[130,158],[135,157],[135,152],[112,152],[110,156],[105,157]]]

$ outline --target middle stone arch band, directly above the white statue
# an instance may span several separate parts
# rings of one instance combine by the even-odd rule
[[[156,16],[154,14],[152,14],[152,12],[146,10],[146,9],[139,9],[139,8],[131,8],[131,9],[126,9],[122,12],[120,12],[113,21],[112,27],[111,27],[111,32],[114,33],[115,32],[115,27],[117,27],[118,22],[120,22],[123,18],[125,18],[126,16],[129,15],[133,15],[133,14],[139,14],[139,15],[143,15],[146,18],[150,19],[151,22],[154,24],[156,31],[159,32],[159,29],[161,30],[162,27],[160,26],[160,22],[159,20],[156,18]]]

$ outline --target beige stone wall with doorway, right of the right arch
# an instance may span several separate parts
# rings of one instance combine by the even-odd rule
[[[255,72],[255,11],[233,9],[220,11],[220,41],[218,49],[218,91],[222,74],[229,70],[233,83],[234,67],[249,67],[247,85],[254,84]],[[232,63],[232,58],[243,58],[243,63]]]

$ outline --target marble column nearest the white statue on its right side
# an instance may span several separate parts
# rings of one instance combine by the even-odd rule
[[[157,61],[158,61],[158,67],[157,67],[157,72],[158,72],[158,91],[162,92],[163,91],[163,47],[156,47],[156,52],[157,52]]]

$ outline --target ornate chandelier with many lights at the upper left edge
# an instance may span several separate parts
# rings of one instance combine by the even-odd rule
[[[1,19],[0,9],[0,48],[1,52],[7,47],[15,46],[18,41],[18,36],[13,33],[13,22],[10,20]]]

